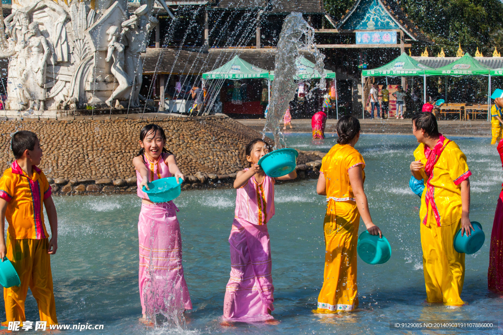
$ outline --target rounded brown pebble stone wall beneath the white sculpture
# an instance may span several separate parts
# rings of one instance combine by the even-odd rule
[[[0,124],[0,168],[14,160],[12,135],[36,133],[44,156],[40,168],[56,194],[135,192],[132,160],[137,155],[143,126],[156,123],[167,136],[166,148],[177,157],[187,176],[183,189],[231,187],[235,172],[247,166],[246,144],[257,131],[227,117],[166,118],[162,120],[4,121]],[[270,139],[267,139],[272,143]],[[302,177],[316,177],[319,152],[299,152]],[[311,164],[305,164],[305,163]],[[305,168],[304,168],[305,167]]]

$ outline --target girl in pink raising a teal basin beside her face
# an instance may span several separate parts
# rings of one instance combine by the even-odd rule
[[[295,170],[271,178],[257,164],[268,152],[268,145],[255,139],[246,146],[249,168],[239,171],[236,210],[230,231],[230,279],[225,290],[222,325],[229,321],[266,321],[274,317],[271,246],[267,222],[274,215],[274,183],[295,179]]]

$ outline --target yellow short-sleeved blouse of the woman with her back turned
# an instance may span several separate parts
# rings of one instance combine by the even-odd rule
[[[349,170],[362,166],[365,181],[365,161],[362,155],[349,144],[336,144],[323,157],[320,172],[326,179],[326,198],[335,201],[355,201],[355,195],[349,182]]]

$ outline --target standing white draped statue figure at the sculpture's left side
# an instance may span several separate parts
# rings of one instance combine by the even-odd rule
[[[29,94],[30,106],[33,106],[34,110],[44,110],[47,58],[51,52],[45,37],[40,34],[38,22],[30,23],[27,35],[29,64],[21,69],[21,77]]]

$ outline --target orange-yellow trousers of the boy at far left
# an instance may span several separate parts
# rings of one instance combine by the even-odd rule
[[[7,234],[7,258],[18,273],[21,285],[4,288],[7,321],[26,321],[25,301],[30,288],[37,301],[40,321],[57,324],[52,288],[49,240],[15,239]]]

